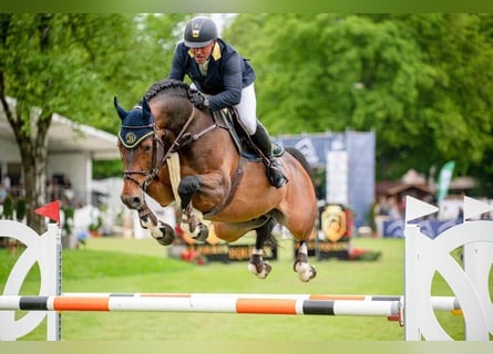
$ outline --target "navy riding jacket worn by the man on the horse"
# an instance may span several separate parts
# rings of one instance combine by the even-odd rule
[[[256,79],[248,61],[222,39],[216,39],[205,76],[201,73],[192,51],[181,42],[176,46],[168,79],[183,81],[185,75],[195,83],[198,91],[212,95],[212,111],[237,105],[242,100],[242,88],[250,85]]]

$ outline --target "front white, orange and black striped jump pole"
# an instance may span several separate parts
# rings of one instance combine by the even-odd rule
[[[399,316],[400,301],[302,300],[248,294],[170,294],[165,296],[4,296],[0,310],[152,311],[281,315]]]

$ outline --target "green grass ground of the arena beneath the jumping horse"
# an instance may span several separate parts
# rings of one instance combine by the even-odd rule
[[[247,263],[208,263],[204,267],[166,257],[166,249],[150,239],[90,239],[85,249],[63,250],[64,292],[234,292],[403,294],[403,240],[355,239],[359,248],[381,251],[378,261],[316,261],[318,274],[302,283],[292,272],[292,243],[280,241],[279,259],[271,262],[266,280],[248,273]],[[16,261],[0,249],[0,284]],[[38,293],[34,268],[22,288]],[[435,289],[436,288],[436,289]],[[449,294],[444,281],[433,284],[435,294]],[[19,313],[19,315],[22,315]],[[463,337],[462,319],[440,313],[440,322],[455,339]],[[24,340],[45,339],[41,325]],[[62,337],[69,341],[136,340],[274,340],[274,341],[400,341],[403,329],[383,317],[290,315],[237,315],[157,312],[65,312]]]

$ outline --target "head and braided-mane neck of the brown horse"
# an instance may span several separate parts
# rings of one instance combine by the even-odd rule
[[[124,167],[121,198],[131,209],[142,207],[143,191],[154,199],[163,198],[162,189],[171,185],[166,169],[162,168],[167,157],[175,152],[191,156],[192,143],[210,131],[213,121],[202,119],[207,113],[194,107],[188,88],[181,81],[160,81],[148,88],[142,104],[131,111],[122,108],[115,97],[114,105],[122,121],[119,132]],[[157,188],[161,188],[158,195]]]

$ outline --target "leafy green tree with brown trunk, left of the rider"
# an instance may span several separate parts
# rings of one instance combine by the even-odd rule
[[[38,232],[44,223],[34,209],[45,202],[47,133],[53,114],[114,133],[113,95],[135,104],[152,84],[150,77],[164,70],[150,63],[155,59],[160,65],[156,53],[163,51],[163,43],[152,46],[152,39],[140,37],[138,19],[0,14],[0,101],[22,159],[27,222]],[[162,35],[170,31],[171,25]]]

